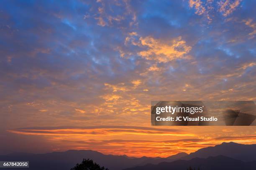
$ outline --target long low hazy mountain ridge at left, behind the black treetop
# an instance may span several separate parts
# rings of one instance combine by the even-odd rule
[[[92,150],[68,150],[66,152],[46,154],[13,153],[0,155],[0,160],[29,160],[30,170],[70,170],[70,168],[74,167],[77,163],[81,163],[83,158],[89,158],[110,170],[122,170],[136,165],[146,165],[147,163],[157,164],[163,161],[173,161],[185,155],[187,154],[179,153],[168,158],[134,158],[128,157],[127,155],[104,155]],[[8,170],[10,170],[10,168]]]

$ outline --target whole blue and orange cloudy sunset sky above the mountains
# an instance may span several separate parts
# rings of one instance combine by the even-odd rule
[[[167,157],[256,127],[151,126],[154,100],[256,100],[256,1],[3,0],[0,154]]]

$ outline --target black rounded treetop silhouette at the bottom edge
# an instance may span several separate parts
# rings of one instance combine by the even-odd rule
[[[70,170],[108,170],[108,168],[101,167],[97,163],[94,163],[93,160],[83,159],[82,163],[78,164],[71,168]]]

